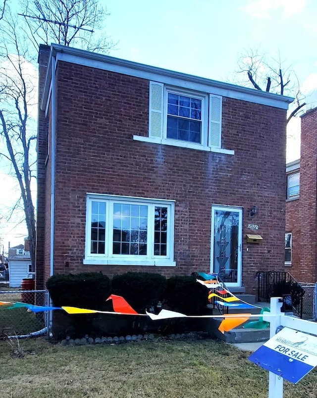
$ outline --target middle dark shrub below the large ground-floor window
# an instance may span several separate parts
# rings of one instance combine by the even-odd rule
[[[127,272],[112,278],[112,293],[122,296],[139,313],[162,301],[166,278],[147,272]]]

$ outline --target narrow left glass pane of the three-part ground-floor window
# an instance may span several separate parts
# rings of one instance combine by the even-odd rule
[[[105,254],[106,244],[106,202],[91,202],[91,248],[93,254]]]

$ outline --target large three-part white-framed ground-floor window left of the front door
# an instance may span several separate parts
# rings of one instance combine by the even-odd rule
[[[87,198],[85,263],[175,265],[172,200]]]

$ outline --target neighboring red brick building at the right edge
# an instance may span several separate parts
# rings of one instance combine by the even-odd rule
[[[298,282],[317,282],[317,108],[301,120],[301,158],[286,165],[285,266]]]

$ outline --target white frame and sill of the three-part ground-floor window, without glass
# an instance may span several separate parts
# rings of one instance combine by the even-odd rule
[[[106,203],[106,242],[105,254],[91,253],[91,203],[102,201]],[[148,241],[147,255],[113,254],[113,204],[139,204],[148,206]],[[154,208],[168,208],[166,256],[154,255]],[[174,261],[174,200],[124,197],[104,194],[87,194],[86,200],[86,238],[84,264],[99,265],[156,265],[175,266]]]

